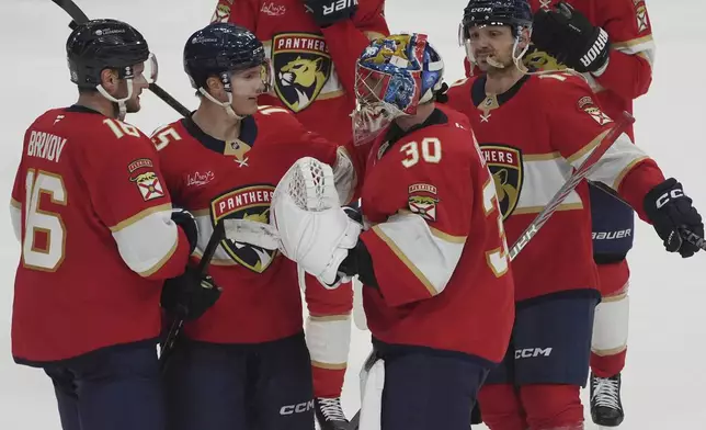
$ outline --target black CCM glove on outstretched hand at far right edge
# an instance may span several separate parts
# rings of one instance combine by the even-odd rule
[[[698,247],[682,239],[680,228],[687,228],[704,237],[704,223],[692,200],[684,194],[682,184],[674,178],[660,183],[645,196],[645,212],[664,241],[669,252],[692,257]]]

